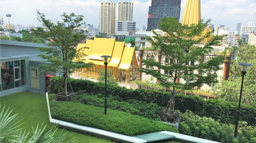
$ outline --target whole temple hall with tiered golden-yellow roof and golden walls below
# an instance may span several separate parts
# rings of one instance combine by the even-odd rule
[[[84,48],[85,47],[85,48]],[[138,68],[135,47],[126,46],[124,42],[117,42],[116,39],[94,38],[94,40],[86,40],[85,44],[78,44],[77,51],[80,48],[85,53],[86,57],[79,59],[84,63],[94,63],[91,68],[82,68],[80,76],[98,78],[99,70],[105,69],[105,65],[100,56],[109,55],[107,69],[112,71],[116,79],[124,79],[128,82],[130,74],[135,75],[135,70]],[[77,61],[77,60],[73,60]]]

